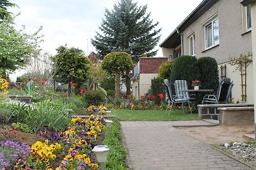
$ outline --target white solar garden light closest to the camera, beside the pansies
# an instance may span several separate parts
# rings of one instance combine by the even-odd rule
[[[94,146],[92,152],[95,153],[98,162],[100,162],[101,170],[104,170],[104,162],[107,160],[109,147],[107,145]]]

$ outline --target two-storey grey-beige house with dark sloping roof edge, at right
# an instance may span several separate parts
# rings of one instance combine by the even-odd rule
[[[252,53],[251,6],[240,3],[241,0],[202,1],[160,46],[170,59],[180,55],[213,57],[218,62],[220,78],[234,81],[234,102],[253,103],[252,63],[241,72],[228,63],[231,58]]]

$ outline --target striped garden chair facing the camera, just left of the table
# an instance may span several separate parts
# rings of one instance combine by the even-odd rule
[[[195,94],[189,95],[189,92],[180,92],[180,90],[188,90],[188,82],[186,80],[175,80],[174,87],[178,99],[187,98],[189,101],[195,100]]]

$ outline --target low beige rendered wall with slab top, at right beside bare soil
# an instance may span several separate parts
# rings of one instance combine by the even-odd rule
[[[254,106],[218,108],[220,125],[254,125]]]

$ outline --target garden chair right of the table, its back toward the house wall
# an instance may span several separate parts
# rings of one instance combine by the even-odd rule
[[[204,103],[213,103],[213,104],[219,104],[219,103],[227,103],[228,98],[230,97],[231,90],[233,87],[233,81],[230,80],[230,78],[224,78],[220,81],[218,91],[216,95],[205,95],[202,101],[202,104]]]

